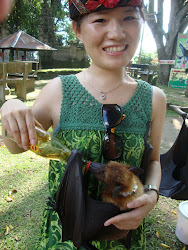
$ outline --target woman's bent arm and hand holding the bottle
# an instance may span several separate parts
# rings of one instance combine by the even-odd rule
[[[24,152],[29,149],[30,143],[36,144],[35,126],[47,130],[53,125],[55,117],[56,120],[59,119],[61,100],[61,80],[55,78],[41,90],[33,108],[15,99],[3,104],[1,107],[2,135],[11,153]],[[5,130],[15,142],[5,137]]]

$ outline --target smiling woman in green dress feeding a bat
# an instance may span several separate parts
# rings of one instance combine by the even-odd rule
[[[160,89],[131,78],[125,71],[140,39],[142,0],[69,0],[69,9],[73,31],[92,59],[91,65],[76,75],[59,76],[50,81],[41,90],[32,109],[20,100],[7,101],[1,108],[3,133],[7,130],[16,143],[4,134],[3,140],[12,153],[20,153],[29,149],[30,142],[37,143],[36,125],[46,130],[52,126],[54,135],[70,150],[79,149],[86,161],[105,163],[116,156],[113,159],[121,163],[140,167],[149,139],[153,152],[148,159],[145,184],[155,189],[147,189],[127,204],[128,212],[108,218],[103,225],[107,230],[110,225],[132,230],[132,239],[129,239],[132,249],[145,249],[143,220],[158,198],[166,100]],[[105,105],[122,110],[118,126],[104,126],[101,110]],[[110,113],[114,117],[113,109]],[[103,138],[106,138],[105,150]],[[121,143],[117,144],[119,140],[115,138],[121,138]],[[105,152],[110,152],[110,158]],[[55,200],[64,170],[64,163],[50,161],[51,201]],[[100,200],[100,183],[92,175],[88,175],[87,183],[92,198]],[[62,231],[57,212],[47,207],[36,248],[76,249],[71,239],[62,242]],[[124,239],[97,241],[94,237],[81,249],[121,250],[126,249],[125,245]]]

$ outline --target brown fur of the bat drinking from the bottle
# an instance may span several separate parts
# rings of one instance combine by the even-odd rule
[[[102,165],[101,167],[92,170],[95,177],[104,183],[102,200],[113,203],[122,211],[127,210],[127,204],[141,196],[144,192],[142,183],[132,171],[134,172],[134,170],[131,170],[130,166],[113,161],[109,162],[107,165]],[[124,197],[123,194],[132,192],[135,183],[138,186],[135,193]],[[113,198],[114,190],[116,190],[116,198]],[[101,232],[98,239],[120,240],[123,238],[126,241],[128,232],[129,231],[127,230],[119,230],[113,226],[113,228],[109,228],[108,233]]]

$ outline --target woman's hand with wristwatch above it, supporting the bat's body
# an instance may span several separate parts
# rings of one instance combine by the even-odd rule
[[[152,190],[147,194],[145,193],[134,201],[128,203],[128,209],[132,209],[130,212],[122,213],[110,218],[104,223],[104,226],[113,224],[121,230],[136,229],[155,206],[156,202],[157,193],[155,191]]]

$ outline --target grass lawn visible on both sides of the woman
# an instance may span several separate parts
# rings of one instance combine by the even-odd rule
[[[27,105],[32,106],[46,82],[37,81],[35,92],[27,96]],[[187,106],[188,99],[183,96],[184,90],[163,86],[161,88],[166,93],[168,102]],[[177,115],[173,111],[168,111],[167,116]],[[47,197],[48,160],[31,152],[10,154],[1,144],[0,249],[34,249]],[[185,249],[175,236],[179,203],[180,201],[160,197],[155,208],[147,216],[148,250],[167,247]]]

